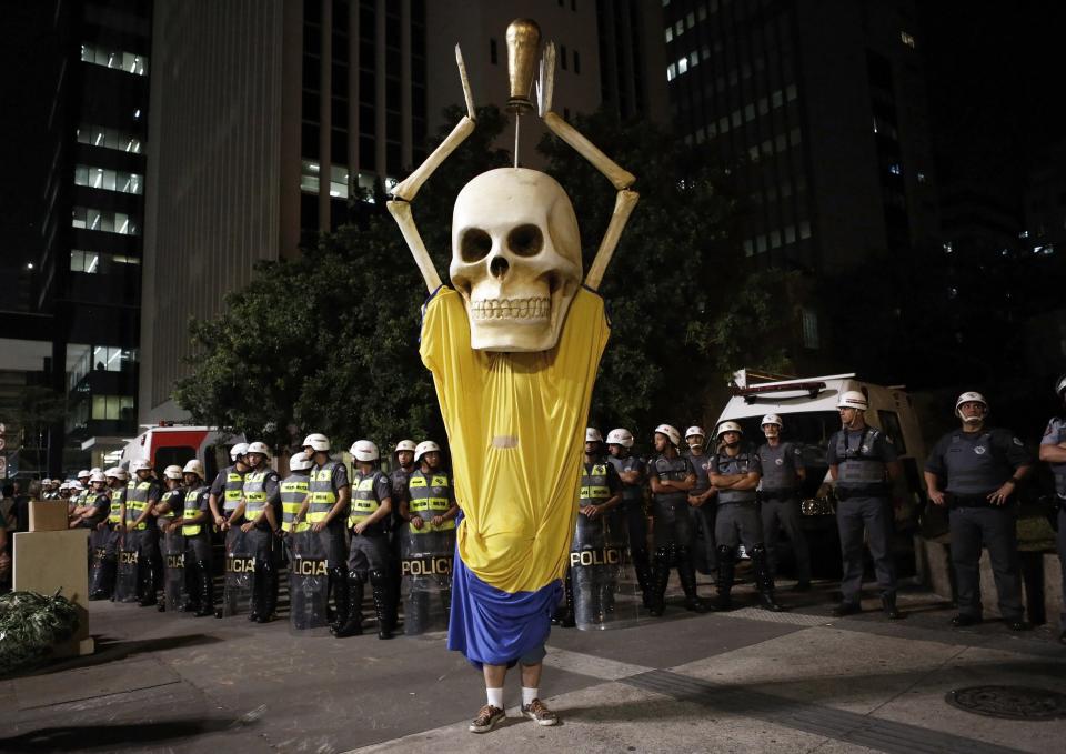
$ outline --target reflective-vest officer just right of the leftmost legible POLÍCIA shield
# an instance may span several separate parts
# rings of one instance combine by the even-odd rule
[[[230,519],[243,516],[241,531],[248,537],[249,552],[255,557],[252,609],[248,620],[269,623],[278,606],[278,567],[281,559],[274,545],[280,530],[278,511],[281,506],[281,481],[278,472],[268,465],[270,448],[266,443],[249,443],[244,458],[249,470],[244,474],[241,504]]]

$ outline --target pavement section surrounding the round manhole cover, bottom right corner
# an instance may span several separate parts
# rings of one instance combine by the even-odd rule
[[[884,720],[938,731],[962,731],[980,741],[1028,752],[1066,747],[1066,720],[1015,721],[965,712],[944,701],[954,688],[980,685],[1028,686],[1066,693],[1066,654],[1040,662],[1009,652],[966,649],[936,673],[874,712]]]

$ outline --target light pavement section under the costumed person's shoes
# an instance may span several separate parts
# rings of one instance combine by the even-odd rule
[[[606,683],[547,700],[563,718],[541,727],[507,711],[507,721],[485,734],[466,730],[469,721],[385,742],[369,752],[403,754],[477,754],[513,751],[560,752],[821,752],[823,736],[748,717],[708,713],[701,704],[677,702],[620,683]],[[476,710],[471,710],[473,717]],[[855,748],[851,751],[856,751]]]

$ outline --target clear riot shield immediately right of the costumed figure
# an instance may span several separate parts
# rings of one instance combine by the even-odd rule
[[[570,550],[574,621],[582,631],[625,629],[641,616],[642,594],[628,559],[625,524],[616,511],[579,514]]]

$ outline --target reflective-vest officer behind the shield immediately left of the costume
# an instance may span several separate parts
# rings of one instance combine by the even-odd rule
[[[451,559],[455,551],[455,519],[459,515],[459,505],[455,502],[452,477],[441,468],[440,445],[432,440],[420,442],[415,446],[414,461],[419,469],[412,471],[408,490],[401,493],[399,499],[400,515],[406,527],[405,532],[401,532],[406,537],[401,555],[408,561]],[[396,494],[395,484],[393,494]],[[404,614],[404,626],[409,635],[428,630],[425,626],[430,623],[431,592],[440,597],[443,612],[447,614],[452,594],[450,575],[450,572],[421,576],[411,574],[408,582],[408,612]]]

